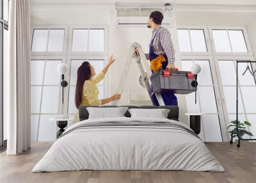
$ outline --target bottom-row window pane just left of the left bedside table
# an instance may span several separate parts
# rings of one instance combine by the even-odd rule
[[[38,141],[55,141],[57,126],[56,122],[49,121],[52,115],[41,115],[38,131]]]

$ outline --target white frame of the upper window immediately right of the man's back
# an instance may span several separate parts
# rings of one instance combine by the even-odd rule
[[[199,56],[199,55],[211,55],[212,54],[211,53],[212,52],[212,47],[211,47],[211,42],[210,42],[210,37],[209,37],[207,26],[177,26],[177,30],[179,30],[179,29],[187,29],[187,30],[200,29],[200,30],[203,30],[204,31],[204,37],[205,37],[205,46],[206,46],[206,49],[207,49],[207,52],[193,52],[193,51],[191,51],[191,52],[182,52],[182,51],[180,51],[181,55]],[[179,38],[177,38],[177,42],[179,44]],[[191,50],[192,50],[190,32],[189,32],[189,42],[190,42],[190,46],[191,46]]]

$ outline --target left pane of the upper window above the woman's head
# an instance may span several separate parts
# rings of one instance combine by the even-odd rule
[[[88,51],[88,29],[73,30],[72,51]]]

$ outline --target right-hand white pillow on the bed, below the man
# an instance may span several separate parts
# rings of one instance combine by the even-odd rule
[[[150,117],[150,118],[167,118],[170,109],[129,109],[132,118]]]

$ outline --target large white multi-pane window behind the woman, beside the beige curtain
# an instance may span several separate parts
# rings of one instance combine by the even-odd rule
[[[108,29],[104,26],[32,28],[31,42],[31,141],[54,141],[60,113],[74,116],[77,68],[89,61],[99,73],[108,58]],[[68,65],[62,104],[60,63]],[[98,84],[99,99],[108,96],[108,78]],[[71,122],[72,123],[72,122]],[[71,124],[68,122],[68,125]]]

